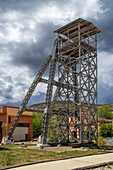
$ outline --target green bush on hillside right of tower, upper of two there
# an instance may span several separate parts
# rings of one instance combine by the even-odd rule
[[[101,118],[112,119],[112,112],[109,106],[103,106],[102,108],[98,109],[98,115]]]

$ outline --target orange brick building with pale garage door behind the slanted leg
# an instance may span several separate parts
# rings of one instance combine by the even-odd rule
[[[0,142],[6,135],[19,110],[19,107],[5,106],[0,108]],[[6,128],[2,128],[2,123],[7,123]],[[33,112],[24,111],[12,135],[14,141],[33,139]]]

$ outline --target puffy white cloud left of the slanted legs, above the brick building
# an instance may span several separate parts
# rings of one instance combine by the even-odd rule
[[[26,74],[28,70],[26,70],[27,69],[22,68],[17,69],[16,66],[10,68],[7,67],[5,69],[4,67],[0,68],[0,91],[2,92],[2,96],[0,96],[0,104],[17,103],[22,101],[22,98],[25,95],[25,89],[23,89],[23,85],[28,87],[31,81],[29,75]]]

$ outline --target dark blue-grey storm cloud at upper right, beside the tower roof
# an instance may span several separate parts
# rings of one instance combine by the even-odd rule
[[[98,35],[100,51],[113,52],[113,1],[103,1],[103,8],[106,12],[99,15],[96,25],[101,30]]]

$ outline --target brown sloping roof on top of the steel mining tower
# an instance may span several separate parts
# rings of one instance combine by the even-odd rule
[[[69,24],[57,29],[54,31],[54,33],[62,34],[65,36],[68,36],[70,38],[74,38],[78,36],[78,24],[80,23],[80,31],[81,36],[84,36],[85,38],[89,36],[93,36],[95,34],[100,33],[101,31],[91,22],[78,18],[75,21],[70,22]]]

